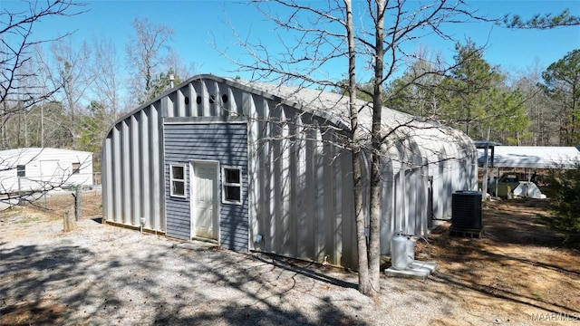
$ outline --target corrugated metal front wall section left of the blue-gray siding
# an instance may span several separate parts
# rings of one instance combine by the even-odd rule
[[[102,146],[103,218],[165,231],[161,101],[112,126]]]

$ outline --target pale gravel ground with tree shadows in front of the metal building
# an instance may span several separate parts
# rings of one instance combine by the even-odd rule
[[[62,218],[41,214],[16,212],[0,221],[0,324],[544,323],[503,310],[500,298],[488,298],[493,304],[483,310],[466,309],[462,302],[483,294],[453,283],[451,274],[384,277],[382,294],[369,298],[357,292],[355,273],[330,266],[141,235],[92,219],[69,233]]]

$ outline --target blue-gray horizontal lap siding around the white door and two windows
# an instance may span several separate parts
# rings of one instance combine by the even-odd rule
[[[167,120],[170,121],[170,120]],[[241,205],[221,203],[219,187],[219,242],[220,245],[247,251],[248,199],[247,199],[247,124],[246,123],[195,123],[165,124],[165,184],[168,235],[191,238],[189,162],[191,160],[218,161],[220,166],[242,168]],[[185,164],[187,172],[187,198],[169,196],[169,163]],[[219,173],[221,176],[221,173]],[[219,185],[221,182],[218,181]]]

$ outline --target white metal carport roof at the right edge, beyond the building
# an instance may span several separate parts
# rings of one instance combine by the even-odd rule
[[[483,166],[483,150],[478,150],[478,165]],[[576,168],[580,149],[556,146],[496,146],[496,168]]]

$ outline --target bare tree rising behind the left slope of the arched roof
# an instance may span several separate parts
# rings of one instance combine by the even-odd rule
[[[175,32],[166,25],[151,24],[147,18],[135,18],[133,28],[136,34],[127,43],[127,60],[137,76],[131,80],[132,95],[142,103],[151,98],[153,81],[164,70],[163,50],[169,50],[169,38]]]

